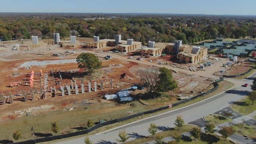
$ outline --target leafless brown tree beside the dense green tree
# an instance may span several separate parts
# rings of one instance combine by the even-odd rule
[[[141,83],[146,87],[148,92],[154,92],[157,88],[159,69],[150,68],[145,70],[139,70]]]

